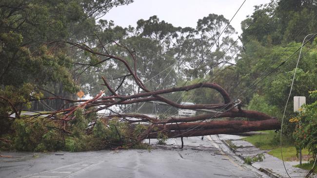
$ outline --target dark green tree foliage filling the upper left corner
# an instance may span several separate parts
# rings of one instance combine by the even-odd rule
[[[59,96],[72,97],[70,93],[79,90],[73,79],[76,73],[73,58],[78,60],[79,52],[69,50],[65,44],[51,42],[86,40],[97,30],[95,18],[100,13],[131,2],[133,0],[1,0],[0,91],[6,86],[21,90],[24,84],[30,84],[34,89],[32,92],[38,93],[36,90],[41,88]],[[19,103],[19,111],[22,107],[30,107],[27,103],[30,96],[15,94],[26,100]],[[55,106],[51,107],[55,109],[62,105],[60,101],[52,103]],[[36,109],[39,109],[38,105]]]

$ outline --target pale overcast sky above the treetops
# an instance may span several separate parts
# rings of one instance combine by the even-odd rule
[[[178,27],[195,28],[198,19],[209,14],[223,15],[230,20],[244,0],[134,0],[129,5],[114,7],[103,19],[114,20],[116,25],[136,26],[141,18],[147,20],[158,16]],[[251,15],[255,5],[269,3],[271,0],[246,0],[231,25],[241,33],[240,22]]]

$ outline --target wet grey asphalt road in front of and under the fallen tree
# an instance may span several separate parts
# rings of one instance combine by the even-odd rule
[[[155,142],[152,140],[151,142]],[[205,137],[169,139],[151,150],[13,153],[0,158],[0,178],[259,178],[266,176]],[[220,145],[221,147],[221,145]]]

